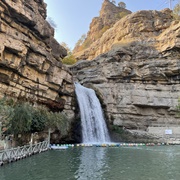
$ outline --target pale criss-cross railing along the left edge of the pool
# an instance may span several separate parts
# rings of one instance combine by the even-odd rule
[[[47,151],[48,149],[49,141],[43,141],[37,144],[2,150],[0,151],[0,166],[2,166],[4,163],[17,161],[33,154]]]

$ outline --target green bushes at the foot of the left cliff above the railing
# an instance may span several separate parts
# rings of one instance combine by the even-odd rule
[[[61,135],[67,132],[66,115],[51,112],[45,106],[3,98],[0,100],[0,112],[3,133],[13,134],[14,137],[42,132],[48,128],[58,129]]]

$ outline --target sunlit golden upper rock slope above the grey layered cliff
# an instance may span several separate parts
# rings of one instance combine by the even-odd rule
[[[171,25],[172,18],[169,9],[162,11],[138,11],[129,14],[116,22],[100,39],[94,41],[89,48],[75,55],[77,59],[91,60],[102,53],[108,52],[111,48],[126,46],[132,42],[162,48],[161,45],[166,46],[166,43],[164,43],[160,35]]]

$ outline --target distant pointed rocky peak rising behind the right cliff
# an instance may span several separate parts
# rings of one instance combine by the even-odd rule
[[[131,11],[117,7],[109,0],[104,0],[99,17],[92,19],[89,27],[89,32],[84,43],[79,47],[75,47],[73,54],[78,58],[79,51],[82,52],[98,40],[108,29],[110,29],[119,19],[130,14]],[[81,52],[81,53],[82,53]],[[80,54],[81,54],[80,53]]]

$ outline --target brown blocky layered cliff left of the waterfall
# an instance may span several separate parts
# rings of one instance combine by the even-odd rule
[[[73,83],[61,63],[66,50],[54,39],[43,0],[0,2],[0,96],[45,104],[73,116]]]

